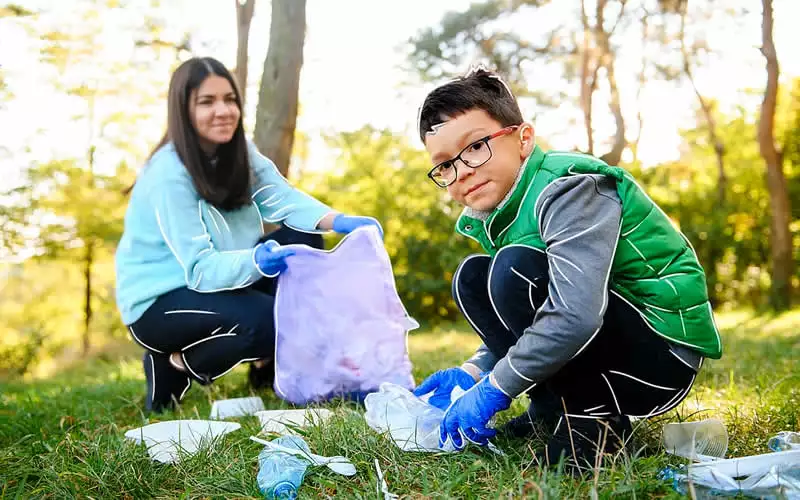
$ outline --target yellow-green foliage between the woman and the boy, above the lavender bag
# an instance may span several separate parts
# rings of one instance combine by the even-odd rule
[[[460,210],[428,180],[427,154],[389,131],[364,127],[329,138],[339,156],[326,174],[303,179],[337,210],[376,217],[394,266],[398,292],[419,320],[454,319],[450,283],[477,246],[455,233]]]

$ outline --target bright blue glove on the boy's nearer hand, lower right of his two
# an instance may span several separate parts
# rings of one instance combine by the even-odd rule
[[[495,387],[488,375],[483,377],[445,412],[439,426],[439,446],[444,446],[448,439],[457,450],[463,449],[467,441],[480,446],[489,444],[489,438],[497,431],[486,425],[495,413],[509,406],[511,398]]]

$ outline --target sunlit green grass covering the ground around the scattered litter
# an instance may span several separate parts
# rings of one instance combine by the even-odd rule
[[[800,427],[800,311],[779,317],[728,314],[720,318],[725,356],[707,362],[689,398],[667,416],[639,424],[633,456],[608,458],[589,477],[541,469],[538,441],[498,439],[505,456],[481,450],[460,454],[403,453],[364,422],[363,409],[332,403],[335,417],[308,430],[311,449],[345,455],[358,469],[351,478],[325,468],[306,477],[301,498],[379,498],[378,459],[390,490],[406,498],[623,498],[678,497],[658,472],[674,457],[658,439],[668,421],[723,419],[729,456],[766,452],[766,439]],[[465,329],[436,329],[410,339],[414,375],[461,362],[476,346]],[[256,456],[248,437],[255,419],[211,451],[175,465],[150,461],[122,437],[128,429],[175,418],[207,418],[213,400],[252,394],[246,370],[237,368],[211,387],[195,385],[179,410],[148,419],[140,359],[87,361],[49,379],[0,386],[0,498],[259,498]],[[269,408],[286,408],[271,390],[256,393]],[[517,401],[501,416],[522,411]]]

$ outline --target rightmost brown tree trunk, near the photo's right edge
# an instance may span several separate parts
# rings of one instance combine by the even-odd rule
[[[775,144],[775,108],[778,101],[778,55],[772,39],[772,0],[762,0],[762,47],[767,66],[767,86],[761,103],[758,122],[758,145],[767,167],[767,188],[770,207],[770,247],[772,251],[772,290],[770,303],[777,311],[789,309],[792,295],[792,234],[789,230],[791,204],[786,177],[783,173],[783,154]]]

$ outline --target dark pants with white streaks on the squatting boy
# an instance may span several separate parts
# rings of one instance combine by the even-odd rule
[[[492,258],[488,255],[465,259],[453,282],[461,312],[498,359],[533,324],[536,310],[547,299],[549,283],[543,252],[523,246],[504,248],[502,252],[502,263],[492,269],[491,282]],[[671,347],[647,326],[633,306],[610,292],[603,326],[597,335],[528,394],[534,408],[538,399],[555,399],[561,409],[563,398],[569,417],[658,415],[686,397],[696,375],[670,352]]]

